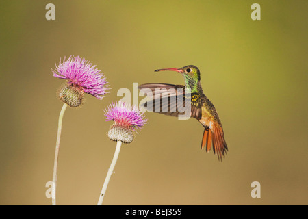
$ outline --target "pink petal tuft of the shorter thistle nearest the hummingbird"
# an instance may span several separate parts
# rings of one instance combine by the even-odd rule
[[[144,119],[144,113],[138,110],[138,107],[131,107],[125,102],[116,102],[110,104],[105,110],[106,121],[114,121],[117,125],[142,129],[147,120]]]

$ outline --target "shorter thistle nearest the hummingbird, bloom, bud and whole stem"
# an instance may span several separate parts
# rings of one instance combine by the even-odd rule
[[[106,121],[114,121],[114,124],[108,131],[108,137],[110,140],[116,141],[116,151],[112,163],[110,164],[110,168],[108,169],[105,182],[103,183],[103,188],[99,195],[99,202],[97,205],[103,204],[107,185],[110,181],[112,172],[114,172],[114,166],[116,166],[122,143],[129,144],[133,142],[133,131],[136,131],[136,129],[142,129],[147,121],[144,119],[144,114],[138,110],[138,107],[130,107],[130,105],[122,102],[111,104],[110,107],[105,110],[105,119]]]

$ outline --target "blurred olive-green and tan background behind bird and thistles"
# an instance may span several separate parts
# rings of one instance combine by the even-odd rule
[[[55,21],[45,5],[55,4]],[[261,5],[261,21],[251,5]],[[116,143],[103,109],[120,88],[183,83],[157,68],[194,64],[229,153],[201,151],[203,127],[146,113],[120,151],[105,205],[307,205],[308,1],[1,1],[0,204],[51,205],[57,118],[52,77],[79,55],[112,87],[64,114],[57,204],[96,205]],[[143,97],[140,97],[140,100]],[[251,183],[261,198],[251,198]]]

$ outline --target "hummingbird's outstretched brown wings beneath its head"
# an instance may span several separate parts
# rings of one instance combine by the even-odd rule
[[[201,96],[197,93],[185,94],[185,86],[169,83],[145,83],[139,86],[140,92],[151,96],[152,99],[144,103],[146,110],[167,116],[184,115],[190,110],[191,117],[200,120]],[[188,97],[190,96],[190,97]],[[189,98],[189,99],[188,99]],[[190,101],[190,108],[185,107]]]

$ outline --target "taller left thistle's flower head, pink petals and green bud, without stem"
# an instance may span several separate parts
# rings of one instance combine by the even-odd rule
[[[79,56],[70,56],[68,60],[59,62],[53,71],[53,76],[60,79],[66,79],[67,85],[59,93],[60,100],[71,107],[81,105],[84,92],[95,96],[97,99],[103,99],[107,94],[107,80],[103,73],[92,63]]]

